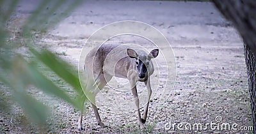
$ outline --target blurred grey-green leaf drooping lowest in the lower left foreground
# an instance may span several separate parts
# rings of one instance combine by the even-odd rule
[[[45,124],[49,116],[49,108],[26,93],[26,88],[31,83],[28,70],[29,64],[22,57],[16,56],[13,58],[10,70],[6,70],[8,76],[4,79],[3,75],[1,75],[0,80],[13,89],[13,100],[19,103],[31,121],[38,124]]]

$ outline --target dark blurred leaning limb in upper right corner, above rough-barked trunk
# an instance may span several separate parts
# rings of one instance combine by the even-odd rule
[[[213,2],[221,13],[234,24],[250,50],[256,52],[256,1],[213,0]]]

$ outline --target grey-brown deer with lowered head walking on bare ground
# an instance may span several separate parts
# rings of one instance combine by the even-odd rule
[[[151,50],[148,54],[145,50],[133,48],[129,45],[111,44],[103,44],[95,47],[87,54],[84,60],[84,72],[87,83],[83,91],[86,98],[91,102],[99,126],[105,127],[95,104],[95,96],[108,84],[112,77],[120,77],[129,80],[132,96],[135,100],[136,112],[138,112],[139,128],[145,128],[144,124],[147,119],[148,105],[152,94],[150,75],[154,73],[154,65],[151,59],[156,58],[158,54],[159,49],[157,48]],[[140,114],[140,101],[136,88],[137,82],[144,82],[148,91],[143,117]],[[84,130],[82,121],[83,110],[78,121],[79,130]]]

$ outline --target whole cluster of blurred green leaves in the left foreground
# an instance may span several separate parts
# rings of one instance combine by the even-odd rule
[[[56,73],[61,80],[70,84],[77,94],[83,94],[77,71],[74,71],[77,69],[55,56],[49,50],[38,50],[36,43],[33,42],[33,34],[35,32],[46,32],[49,28],[58,24],[77,5],[81,4],[81,1],[42,1],[24,23],[24,26],[21,27],[20,38],[18,40],[9,40],[9,35],[6,33],[10,31],[6,26],[13,13],[15,13],[18,3],[19,1],[17,0],[0,0],[0,82],[10,87],[6,89],[10,89],[10,92],[13,93],[12,98],[4,97],[4,93],[0,94],[1,100],[4,100],[0,103],[0,110],[8,110],[9,105],[6,103],[8,101],[6,99],[13,99],[19,103],[31,121],[45,124],[49,115],[49,108],[27,93],[27,89],[31,86],[37,87],[44,93],[54,94],[54,96],[81,110],[83,108],[81,100],[85,96],[75,97],[68,95],[65,90],[45,77],[45,74],[40,71],[37,64],[44,64],[51,69],[52,73]],[[17,52],[15,48],[21,42],[20,39],[22,39],[24,47],[28,48],[29,56],[33,58]],[[3,86],[1,83],[0,86]]]

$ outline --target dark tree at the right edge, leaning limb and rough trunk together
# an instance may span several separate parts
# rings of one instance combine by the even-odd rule
[[[256,1],[213,0],[221,13],[234,24],[244,41],[244,57],[251,98],[253,133],[256,133]]]

